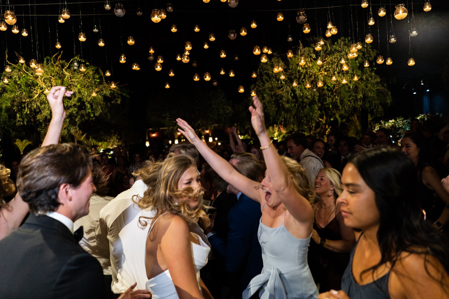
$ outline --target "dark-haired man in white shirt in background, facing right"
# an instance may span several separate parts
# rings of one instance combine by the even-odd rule
[[[307,138],[305,134],[295,133],[286,138],[287,154],[292,159],[299,161],[306,169],[306,176],[309,185],[313,188],[315,178],[321,168],[325,168],[323,161],[307,148]]]

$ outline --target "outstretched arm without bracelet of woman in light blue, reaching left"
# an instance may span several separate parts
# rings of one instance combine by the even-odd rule
[[[221,178],[236,187],[238,190],[242,191],[242,193],[247,195],[249,198],[260,202],[260,192],[256,188],[257,186],[260,186],[258,182],[255,182],[239,173],[232,167],[232,165],[229,164],[228,161],[212,151],[205,143],[201,141],[201,139],[199,139],[194,129],[192,129],[186,121],[177,118],[176,122],[178,123],[178,126],[181,127],[178,131],[180,131],[185,138],[187,138],[190,143],[198,149],[198,152]]]

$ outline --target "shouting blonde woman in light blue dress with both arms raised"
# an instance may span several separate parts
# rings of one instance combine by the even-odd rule
[[[238,173],[232,165],[213,152],[199,139],[189,124],[176,121],[207,163],[229,184],[260,203],[262,217],[259,242],[264,268],[254,277],[243,298],[258,292],[262,299],[313,299],[318,291],[307,264],[307,251],[312,235],[313,211],[310,189],[304,168],[295,160],[279,156],[269,139],[259,99],[253,97],[251,124],[260,141],[267,166],[261,183]]]

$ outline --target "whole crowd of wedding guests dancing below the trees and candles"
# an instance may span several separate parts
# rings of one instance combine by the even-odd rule
[[[400,146],[273,142],[255,96],[250,145],[178,118],[186,141],[128,165],[59,143],[72,94],[53,87],[42,146],[0,166],[0,298],[449,298],[449,118]]]

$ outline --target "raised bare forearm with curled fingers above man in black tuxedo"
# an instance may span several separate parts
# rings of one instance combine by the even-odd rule
[[[48,126],[47,134],[45,134],[44,142],[42,142],[43,147],[59,143],[62,125],[64,124],[64,118],[66,118],[66,111],[62,103],[64,95],[71,96],[73,91],[66,91],[66,87],[63,86],[54,86],[47,95],[48,104],[52,109],[52,120]]]

